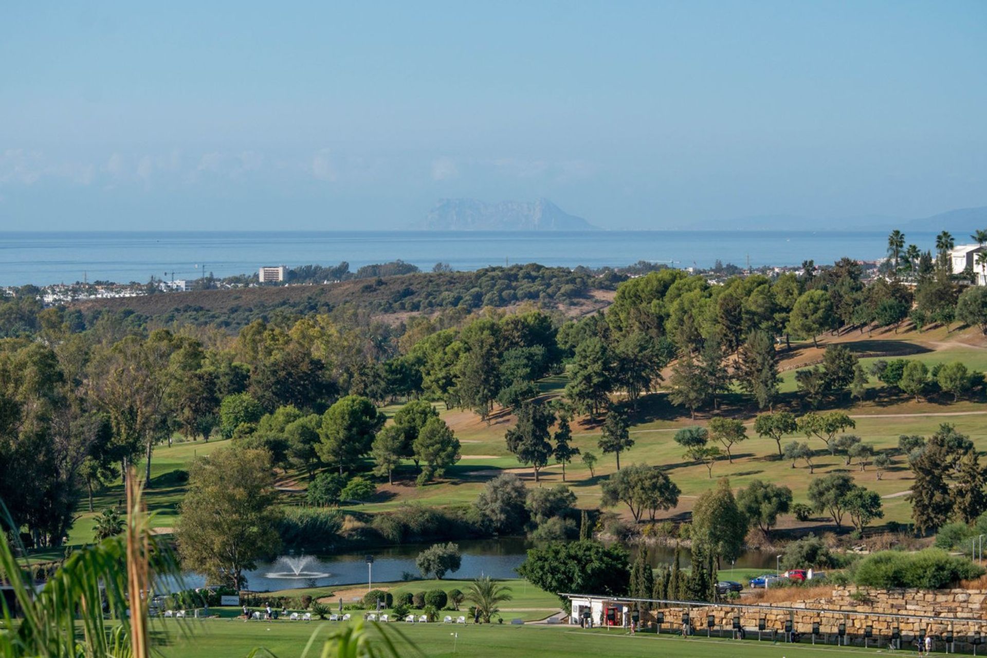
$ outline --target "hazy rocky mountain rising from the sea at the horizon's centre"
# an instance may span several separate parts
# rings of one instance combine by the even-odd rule
[[[594,231],[548,199],[488,203],[472,198],[441,199],[415,226],[424,231]]]

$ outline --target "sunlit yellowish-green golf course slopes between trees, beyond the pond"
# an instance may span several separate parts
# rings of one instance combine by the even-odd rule
[[[267,289],[265,289],[267,290]],[[859,334],[854,331],[842,336],[826,336],[824,344],[838,342],[847,345],[860,354],[864,363],[868,364],[877,358],[895,358],[907,356],[925,361],[930,366],[938,362],[961,360],[974,370],[987,371],[987,349],[984,339],[975,329],[963,331],[946,329],[931,329],[923,333],[902,331],[893,333],[891,330],[874,332],[872,336]],[[823,345],[824,346],[824,345]],[[816,349],[810,343],[796,344],[792,352],[783,359],[782,366],[789,368],[783,372],[784,388],[794,390],[795,368],[811,364],[822,356],[822,349]],[[548,378],[540,383],[543,394],[559,396],[566,385],[564,376]],[[873,388],[881,387],[872,383]],[[795,410],[797,398],[788,397],[786,402]],[[389,405],[384,411],[389,415],[400,408],[400,404]],[[347,507],[350,512],[374,513],[393,510],[408,503],[423,505],[455,505],[472,503],[491,477],[505,470],[520,475],[533,483],[530,468],[518,464],[510,455],[504,444],[504,432],[514,421],[513,416],[504,411],[496,413],[491,422],[485,423],[472,411],[462,409],[445,409],[442,404],[436,404],[441,416],[456,432],[462,444],[462,461],[447,470],[445,479],[428,484],[415,486],[415,473],[411,465],[406,465],[396,473],[394,485],[386,483],[380,486],[377,498],[368,504]],[[974,444],[981,452],[987,451],[987,404],[980,400],[950,402],[949,400],[933,399],[915,402],[905,396],[881,396],[879,399],[867,402],[847,402],[845,410],[856,418],[857,427],[853,433],[860,435],[865,442],[873,443],[878,450],[891,449],[896,446],[901,434],[921,434],[928,436],[936,431],[943,422],[956,425],[961,432],[969,434]],[[739,394],[727,395],[721,407],[721,413],[744,418],[749,422],[756,409],[752,408],[749,399]],[[624,464],[661,465],[669,469],[669,475],[681,487],[682,497],[677,509],[671,510],[663,517],[681,516],[688,512],[695,498],[714,484],[714,479],[708,476],[704,466],[691,464],[683,460],[681,448],[674,443],[674,432],[688,425],[704,424],[711,413],[698,414],[696,420],[691,419],[682,409],[671,405],[664,393],[646,396],[632,414],[632,437],[635,440],[633,448],[621,456]],[[612,456],[602,455],[597,447],[600,431],[599,424],[586,418],[574,423],[573,444],[583,452],[592,452],[599,458],[595,474],[582,466],[578,458],[567,467],[567,483],[578,497],[578,504],[584,507],[599,505],[600,481],[616,471],[615,460]],[[778,459],[777,447],[770,439],[761,439],[753,435],[744,443],[734,446],[733,463],[725,460],[718,462],[713,469],[714,478],[728,476],[734,487],[745,486],[754,478],[787,484],[792,487],[796,501],[806,501],[806,490],[810,475],[804,463],[797,464],[793,469],[791,464]],[[787,437],[787,441],[805,440],[804,436]],[[175,525],[177,519],[177,504],[184,493],[184,486],[169,474],[187,468],[189,460],[195,455],[207,454],[227,442],[184,443],[172,448],[159,447],[152,462],[152,487],[148,490],[148,502],[152,511],[157,513],[154,525],[167,529]],[[902,457],[895,458],[895,464],[882,479],[876,479],[873,469],[860,472],[857,465],[847,466],[842,458],[825,453],[824,446],[817,439],[810,439],[809,445],[817,450],[814,460],[813,475],[830,473],[849,473],[865,486],[876,490],[885,496],[884,521],[907,521],[910,515],[908,501],[900,495],[911,486],[911,473],[904,464]],[[295,474],[289,474],[289,478]],[[555,464],[543,472],[544,484],[562,483],[562,469]],[[298,485],[304,487],[307,480],[297,477]],[[899,495],[895,495],[899,494]],[[108,487],[97,497],[97,510],[118,504],[122,498],[122,486],[116,484]],[[619,509],[619,508],[618,508]],[[623,510],[620,510],[623,511]],[[92,537],[93,515],[83,512],[79,521],[72,529],[70,543],[79,544],[89,541]],[[807,524],[810,527],[825,529],[827,521],[823,518]],[[60,552],[60,551],[59,551]]]

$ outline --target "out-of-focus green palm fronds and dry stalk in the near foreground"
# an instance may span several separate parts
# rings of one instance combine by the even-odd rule
[[[133,471],[127,475],[126,491],[122,536],[74,551],[43,587],[35,585],[28,575],[30,568],[18,562],[6,534],[0,532],[0,583],[12,588],[21,612],[20,619],[14,619],[6,600],[0,598],[0,657],[149,658],[149,601],[159,583],[180,583],[181,570],[168,545],[151,533]],[[2,503],[0,510],[7,515]],[[7,517],[7,527],[16,528]],[[177,620],[174,625],[183,631],[191,628]],[[423,655],[400,630],[377,627],[379,638],[371,638],[362,623],[344,626],[325,641],[320,655]],[[318,632],[309,638],[303,658],[315,644]],[[396,639],[401,642],[400,651]],[[259,648],[250,655],[272,654]]]

